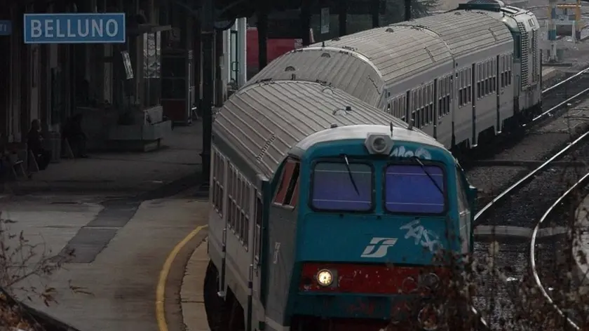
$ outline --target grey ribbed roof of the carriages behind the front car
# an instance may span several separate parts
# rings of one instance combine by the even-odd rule
[[[376,104],[387,82],[406,79],[456,55],[511,42],[511,38],[506,25],[485,11],[451,11],[292,50],[250,83],[295,75],[297,80],[331,83]]]

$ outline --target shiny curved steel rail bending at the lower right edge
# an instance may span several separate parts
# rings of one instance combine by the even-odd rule
[[[532,275],[534,276],[534,282],[536,282],[536,287],[538,287],[540,292],[542,292],[542,295],[543,295],[544,299],[546,299],[546,301],[548,301],[548,304],[550,304],[550,306],[552,306],[553,309],[555,309],[555,311],[562,318],[566,318],[567,324],[569,324],[569,326],[573,327],[575,330],[581,330],[581,327],[576,325],[576,323],[574,323],[573,320],[571,320],[566,315],[564,315],[564,312],[562,311],[562,309],[560,309],[560,307],[557,304],[555,304],[554,300],[552,299],[552,297],[550,297],[548,292],[546,292],[546,288],[544,288],[544,285],[542,285],[542,282],[540,281],[540,276],[538,275],[538,272],[536,271],[536,247],[535,246],[536,246],[536,236],[538,235],[538,231],[540,230],[540,226],[548,218],[548,215],[550,215],[554,211],[554,209],[557,207],[557,205],[559,205],[564,200],[564,198],[567,198],[567,196],[569,196],[569,194],[571,194],[571,192],[574,191],[575,189],[577,189],[581,184],[585,184],[585,182],[588,179],[589,179],[589,173],[585,174],[581,178],[581,180],[578,180],[566,192],[564,192],[564,194],[562,194],[562,196],[560,196],[560,198],[557,198],[557,200],[552,205],[550,205],[550,207],[548,207],[548,209],[546,210],[544,215],[542,215],[542,217],[540,218],[538,223],[536,223],[536,227],[534,227],[534,231],[532,232],[532,240],[529,243],[530,267],[532,268]]]

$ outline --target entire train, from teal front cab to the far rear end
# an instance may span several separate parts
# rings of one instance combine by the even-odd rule
[[[477,198],[452,151],[539,112],[537,27],[473,0],[292,50],[233,94],[212,128],[211,330],[444,330],[420,289],[439,252],[473,251]]]

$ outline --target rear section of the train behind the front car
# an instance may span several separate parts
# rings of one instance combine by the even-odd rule
[[[541,109],[539,24],[497,0],[293,50],[250,83],[323,81],[424,130],[476,147]]]

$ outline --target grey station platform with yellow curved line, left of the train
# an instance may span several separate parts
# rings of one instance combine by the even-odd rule
[[[176,127],[158,151],[90,153],[7,183],[0,217],[11,222],[2,224],[37,245],[31,259],[16,263],[33,270],[41,260],[74,252],[62,269],[32,274],[13,294],[77,330],[158,331],[154,306],[163,290],[169,330],[182,330],[180,284],[205,232],[177,250],[172,264],[166,261],[177,243],[207,223],[208,203],[196,200],[194,188],[201,180],[201,135],[199,122]],[[46,306],[20,285],[55,288],[57,302]]]

